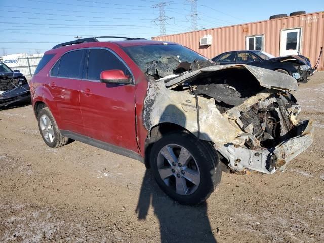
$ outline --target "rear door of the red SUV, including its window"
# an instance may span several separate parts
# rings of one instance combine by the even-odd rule
[[[51,70],[48,89],[53,95],[59,117],[59,129],[83,134],[79,85],[86,55],[85,49],[65,53]]]

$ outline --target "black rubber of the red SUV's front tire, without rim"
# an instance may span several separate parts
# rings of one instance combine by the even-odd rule
[[[200,173],[200,182],[192,194],[177,194],[175,190],[166,185],[158,172],[158,154],[161,149],[169,144],[177,144],[184,147],[195,160]],[[155,142],[150,153],[150,164],[159,187],[169,197],[180,204],[186,205],[203,203],[219,185],[222,175],[219,157],[212,145],[206,141],[197,140],[196,137],[186,132],[169,133]]]

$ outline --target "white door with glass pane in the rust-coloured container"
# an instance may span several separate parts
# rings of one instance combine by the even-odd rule
[[[299,55],[301,28],[281,30],[280,56]]]

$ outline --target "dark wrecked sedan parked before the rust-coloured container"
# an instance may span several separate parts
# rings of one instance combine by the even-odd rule
[[[298,82],[303,83],[306,83],[307,78],[313,75],[315,71],[311,67],[309,59],[305,56],[290,55],[275,57],[258,50],[224,52],[212,58],[212,60],[220,65],[239,63],[278,71],[288,74],[296,78]]]

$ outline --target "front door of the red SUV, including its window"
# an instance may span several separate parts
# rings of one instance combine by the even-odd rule
[[[80,108],[86,136],[138,152],[135,133],[135,86],[100,82],[100,73],[130,69],[114,52],[90,48],[87,72],[80,82]]]

